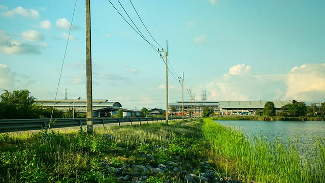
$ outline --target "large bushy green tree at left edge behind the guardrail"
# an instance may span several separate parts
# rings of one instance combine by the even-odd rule
[[[13,93],[8,90],[0,96],[1,103],[1,115],[6,119],[23,119],[30,118],[32,104],[34,104],[35,98],[30,95],[27,89],[15,90]]]

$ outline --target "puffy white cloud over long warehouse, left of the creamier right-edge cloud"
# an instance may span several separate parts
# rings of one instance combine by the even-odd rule
[[[206,87],[209,100],[259,101],[283,98],[286,86],[282,75],[258,75],[250,66],[239,64]]]

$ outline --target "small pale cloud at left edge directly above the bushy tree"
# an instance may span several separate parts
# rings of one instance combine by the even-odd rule
[[[11,71],[11,69],[5,65],[0,64],[0,91],[4,89],[14,90],[15,89],[15,80],[16,73]]]

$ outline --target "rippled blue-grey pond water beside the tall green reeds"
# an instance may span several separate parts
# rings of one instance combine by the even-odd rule
[[[269,141],[280,138],[283,144],[287,145],[287,139],[289,138],[298,145],[296,147],[298,148],[301,164],[304,165],[304,168],[321,176],[324,174],[325,121],[224,120],[216,122],[240,128],[250,139],[253,136],[258,137],[262,133]],[[315,148],[315,146],[317,147]]]

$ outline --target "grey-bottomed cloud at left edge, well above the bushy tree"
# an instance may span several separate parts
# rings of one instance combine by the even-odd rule
[[[22,40],[14,40],[0,29],[0,52],[7,54],[41,53],[38,46],[28,44]]]

